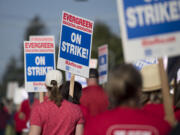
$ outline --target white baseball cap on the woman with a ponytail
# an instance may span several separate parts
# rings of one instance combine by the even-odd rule
[[[61,86],[63,83],[63,76],[61,71],[59,70],[50,70],[48,71],[48,73],[46,74],[46,79],[45,79],[45,84],[47,87],[53,87],[53,85],[51,84],[51,81],[55,80],[57,81],[57,86]]]

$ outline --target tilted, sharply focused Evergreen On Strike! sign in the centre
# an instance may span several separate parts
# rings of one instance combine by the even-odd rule
[[[57,68],[89,77],[94,22],[63,11]]]

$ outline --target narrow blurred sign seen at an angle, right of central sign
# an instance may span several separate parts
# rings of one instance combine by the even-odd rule
[[[99,84],[104,84],[108,80],[108,46],[102,45],[98,48],[98,72]]]

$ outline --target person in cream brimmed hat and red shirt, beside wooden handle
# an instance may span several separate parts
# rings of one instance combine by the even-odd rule
[[[141,70],[141,74],[143,77],[143,89],[141,94],[141,103],[144,105],[143,109],[164,119],[165,112],[158,64],[144,66]],[[172,106],[172,108],[174,107]],[[179,119],[179,111],[175,113],[175,117],[177,120]]]

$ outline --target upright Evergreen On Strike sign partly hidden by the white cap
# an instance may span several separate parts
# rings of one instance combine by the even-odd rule
[[[25,41],[24,66],[25,89],[28,92],[45,92],[46,73],[55,69],[54,42]]]

